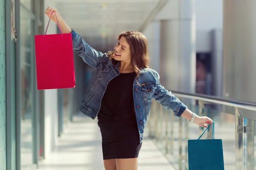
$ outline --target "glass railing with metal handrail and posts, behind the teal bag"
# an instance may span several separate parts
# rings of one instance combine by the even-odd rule
[[[174,91],[173,94],[191,111],[214,120],[215,139],[223,142],[225,170],[254,170],[256,103]],[[211,139],[211,127],[201,139]],[[188,170],[187,141],[197,139],[203,130],[153,101],[145,132],[175,169]]]

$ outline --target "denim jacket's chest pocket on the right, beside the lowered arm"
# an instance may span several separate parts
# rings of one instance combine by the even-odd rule
[[[141,85],[143,101],[146,103],[150,103],[153,100],[154,92],[156,89],[155,83],[147,83],[145,85]]]

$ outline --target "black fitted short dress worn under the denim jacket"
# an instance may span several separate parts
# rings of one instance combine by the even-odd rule
[[[102,134],[104,160],[139,156],[142,144],[134,111],[135,76],[133,72],[113,78],[102,98],[98,125]]]

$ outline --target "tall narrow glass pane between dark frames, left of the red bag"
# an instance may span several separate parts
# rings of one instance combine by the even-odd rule
[[[20,10],[20,75],[21,75],[21,169],[30,167],[32,160],[31,57],[33,54],[33,21]]]

